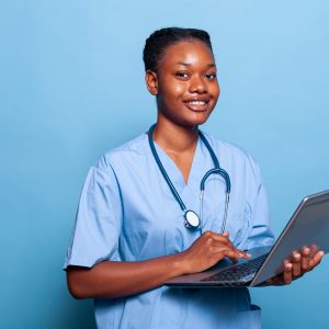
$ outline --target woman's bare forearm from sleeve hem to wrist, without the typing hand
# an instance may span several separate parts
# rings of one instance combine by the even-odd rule
[[[123,297],[182,274],[179,254],[141,262],[103,261],[91,269],[69,266],[67,282],[76,298]]]

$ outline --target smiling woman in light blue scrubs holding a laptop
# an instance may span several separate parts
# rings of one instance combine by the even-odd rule
[[[144,61],[147,88],[157,100],[157,124],[90,169],[65,264],[69,290],[77,298],[95,298],[99,328],[258,328],[260,310],[247,288],[162,285],[226,257],[248,258],[243,250],[272,245],[273,235],[257,162],[229,143],[206,134],[201,138],[198,126],[219,97],[208,34],[156,31],[146,41]],[[231,182],[226,223],[222,175],[206,181],[200,214],[200,182],[214,168],[206,143]],[[200,223],[192,216],[195,229],[186,227],[182,209],[201,216]],[[273,283],[290,283],[321,256],[304,248]]]

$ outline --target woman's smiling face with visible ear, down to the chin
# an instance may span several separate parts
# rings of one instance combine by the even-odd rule
[[[157,95],[158,120],[182,126],[206,122],[219,97],[213,53],[200,41],[168,46],[158,71],[147,72],[146,80]]]

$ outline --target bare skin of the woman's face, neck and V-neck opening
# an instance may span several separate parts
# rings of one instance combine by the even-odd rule
[[[219,97],[212,50],[202,42],[180,42],[166,48],[157,72],[146,72],[149,92],[157,97],[155,141],[181,170],[188,182],[198,133]],[[204,101],[194,105],[191,101]]]

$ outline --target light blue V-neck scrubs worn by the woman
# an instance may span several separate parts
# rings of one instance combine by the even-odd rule
[[[239,249],[273,245],[266,194],[252,157],[206,135],[220,167],[230,175],[226,231]],[[189,182],[156,145],[160,160],[188,209],[200,212],[200,182],[214,168],[198,139]],[[225,181],[208,178],[200,230],[186,229],[183,213],[151,154],[146,134],[105,154],[88,173],[81,193],[68,265],[91,268],[102,261],[144,261],[181,252],[206,230],[220,232]],[[247,288],[169,288],[95,299],[98,328],[193,329],[260,328],[260,309]]]

